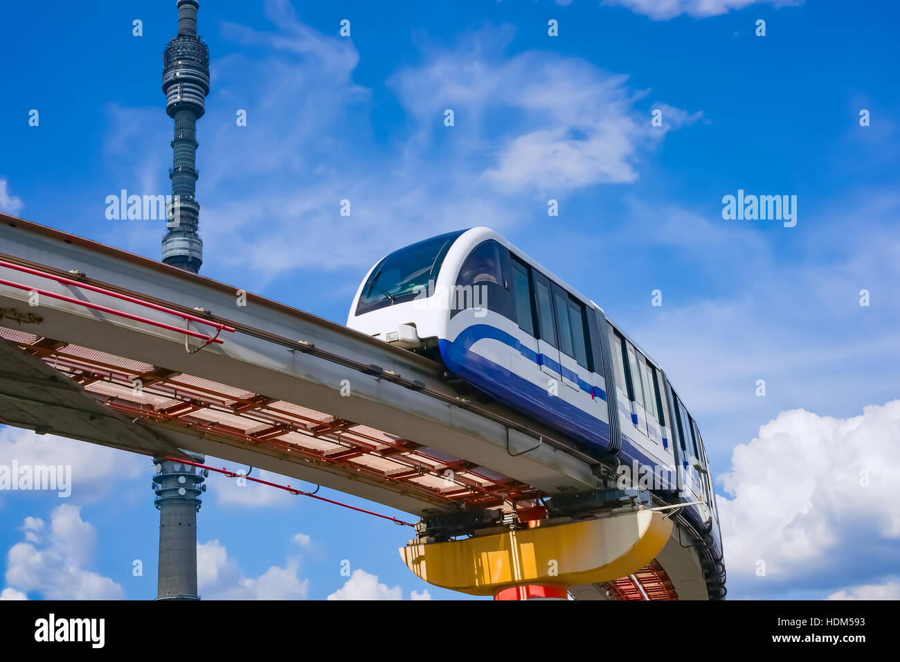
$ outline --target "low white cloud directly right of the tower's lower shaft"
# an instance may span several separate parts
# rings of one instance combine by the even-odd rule
[[[246,577],[219,540],[197,543],[197,590],[207,600],[304,600],[310,580],[300,579],[300,562],[289,558],[257,578]]]

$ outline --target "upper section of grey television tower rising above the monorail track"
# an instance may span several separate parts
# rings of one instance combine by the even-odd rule
[[[163,262],[197,273],[203,263],[200,205],[195,193],[197,120],[210,93],[210,52],[197,36],[197,0],[178,0],[178,36],[163,55],[166,113],[175,120],[172,145],[172,202],[169,204]]]

